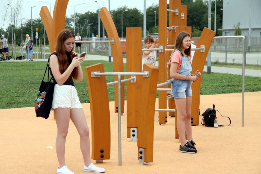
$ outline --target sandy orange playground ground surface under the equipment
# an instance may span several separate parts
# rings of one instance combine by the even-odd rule
[[[154,119],[153,162],[139,165],[137,142],[127,138],[126,113],[122,116],[122,166],[118,160],[118,114],[110,102],[111,159],[97,166],[108,174],[166,173],[261,173],[261,92],[244,94],[244,127],[242,127],[242,93],[200,96],[203,113],[214,103],[223,116],[230,117],[228,127],[193,126],[193,139],[198,153],[179,152],[175,139],[175,117],[159,125],[158,112]],[[125,101],[126,102],[126,101]],[[90,105],[82,104],[91,130]],[[126,107],[126,104],[125,104]],[[156,109],[158,99],[156,99]],[[125,112],[127,109],[125,108]],[[218,124],[229,123],[217,113]],[[45,120],[36,118],[34,107],[0,110],[0,173],[54,174],[58,167],[55,152],[56,123],[53,113]],[[90,134],[91,138],[91,134]],[[101,142],[102,143],[102,142]],[[53,146],[54,149],[47,149]],[[66,139],[66,165],[75,174],[83,172],[79,135],[70,122]],[[95,163],[95,160],[92,160]]]

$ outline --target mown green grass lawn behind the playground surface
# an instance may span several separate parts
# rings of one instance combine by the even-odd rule
[[[84,67],[96,63],[103,63],[105,72],[113,72],[113,63],[107,61],[84,61]],[[44,76],[44,70],[47,62],[1,62],[0,69],[0,109],[33,107],[36,93],[39,90],[41,80]],[[126,71],[126,64],[124,64]],[[126,77],[125,77],[126,78]],[[114,76],[106,76],[107,82],[114,81]],[[89,93],[86,77],[82,82],[75,82],[78,96],[81,103],[89,102]],[[125,83],[126,89],[126,83]],[[261,91],[261,78],[245,76],[245,92]],[[242,92],[242,76],[221,74],[221,73],[203,73],[201,95],[225,94]],[[108,86],[109,101],[114,101],[114,85]],[[125,90],[126,100],[126,90]]]

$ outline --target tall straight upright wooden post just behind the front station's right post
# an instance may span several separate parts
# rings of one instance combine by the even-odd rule
[[[142,71],[142,29],[127,28],[127,72]],[[131,76],[127,76],[127,79]],[[140,101],[141,76],[136,76],[136,82],[127,82],[127,138],[130,138],[130,128],[138,130],[138,115],[141,114]]]

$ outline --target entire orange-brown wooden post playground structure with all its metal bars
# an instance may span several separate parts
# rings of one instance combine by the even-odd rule
[[[58,35],[59,31],[64,29],[66,11],[66,6],[64,6],[64,4],[67,4],[68,1],[69,0],[56,0],[53,19],[51,18],[49,10],[46,6],[43,6],[40,12],[40,16],[47,30],[47,35],[51,36],[49,37],[49,43],[52,52],[54,51],[56,36]],[[119,44],[119,36],[117,34],[115,25],[106,8],[102,8],[100,11],[99,16],[104,24],[109,38],[109,41],[106,42],[110,43],[112,48],[115,72],[105,73],[102,64],[85,67],[91,107],[93,160],[110,159],[110,115],[108,107],[107,85],[115,85],[115,112],[118,113],[119,117],[119,165],[121,165],[121,113],[124,112],[124,88],[121,88],[122,82],[127,82],[128,91],[127,137],[130,138],[131,135],[132,138],[134,138],[131,139],[131,141],[138,141],[138,159],[140,164],[143,164],[144,162],[153,162],[154,112],[159,112],[159,124],[165,124],[167,122],[167,111],[169,111],[170,116],[174,116],[175,112],[178,112],[175,109],[174,99],[167,98],[165,92],[166,90],[169,90],[169,88],[166,88],[166,86],[171,84],[171,81],[167,80],[166,70],[169,59],[168,57],[173,50],[166,48],[172,48],[174,46],[176,35],[179,32],[187,31],[189,34],[191,34],[191,27],[186,27],[187,8],[186,6],[181,5],[180,0],[170,1],[169,6],[170,9],[167,9],[166,0],[159,0],[159,18],[161,18],[159,21],[160,48],[153,49],[159,50],[159,68],[145,64],[143,68],[144,72],[141,72],[141,28],[127,28],[127,72],[123,72],[123,58]],[[169,24],[176,26],[176,30],[171,32],[168,38],[166,37],[166,29],[173,30],[173,28],[167,27],[167,12],[170,12]],[[214,38],[214,34],[214,31],[211,31],[207,28],[204,28],[202,31],[198,46],[195,49],[196,51],[193,58],[194,61],[192,62],[193,72],[195,72],[197,69],[199,69],[200,72],[203,72],[206,56]],[[117,81],[106,84],[104,77],[105,75],[113,75]],[[126,75],[128,79],[124,80],[124,75]],[[158,77],[159,84],[157,84]],[[192,85],[192,124],[199,124],[198,111],[200,85],[201,79]],[[244,89],[244,76],[242,88]],[[159,109],[155,109],[156,90],[159,91]],[[243,92],[242,120],[244,118]],[[169,99],[169,109],[166,108],[167,99]],[[243,121],[242,126],[244,126]],[[178,139],[177,131],[176,139]]]

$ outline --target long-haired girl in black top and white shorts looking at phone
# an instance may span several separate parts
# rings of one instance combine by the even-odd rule
[[[80,135],[84,172],[101,173],[105,172],[105,169],[96,167],[91,162],[89,127],[74,87],[73,79],[77,81],[83,80],[81,63],[85,58],[78,57],[78,54],[74,52],[74,34],[74,31],[67,29],[60,31],[57,36],[55,52],[50,55],[50,72],[55,83],[52,109],[55,113],[57,125],[55,143],[59,162],[57,174],[74,174],[65,164],[65,142],[70,119]]]

